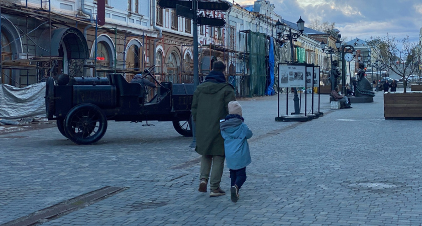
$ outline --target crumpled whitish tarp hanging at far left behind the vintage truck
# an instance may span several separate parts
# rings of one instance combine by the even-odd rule
[[[23,88],[0,86],[0,119],[45,118],[45,82]]]

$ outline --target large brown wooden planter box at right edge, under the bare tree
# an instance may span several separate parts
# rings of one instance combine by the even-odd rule
[[[386,120],[422,120],[422,91],[384,93]]]

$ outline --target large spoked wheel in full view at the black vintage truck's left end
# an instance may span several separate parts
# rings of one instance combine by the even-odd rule
[[[82,103],[70,109],[64,120],[66,137],[79,145],[99,141],[107,130],[107,117],[102,110],[90,103]]]

